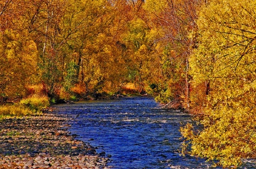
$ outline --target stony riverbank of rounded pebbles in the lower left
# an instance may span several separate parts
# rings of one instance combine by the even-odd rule
[[[109,168],[109,158],[76,140],[63,115],[0,121],[0,168]]]

